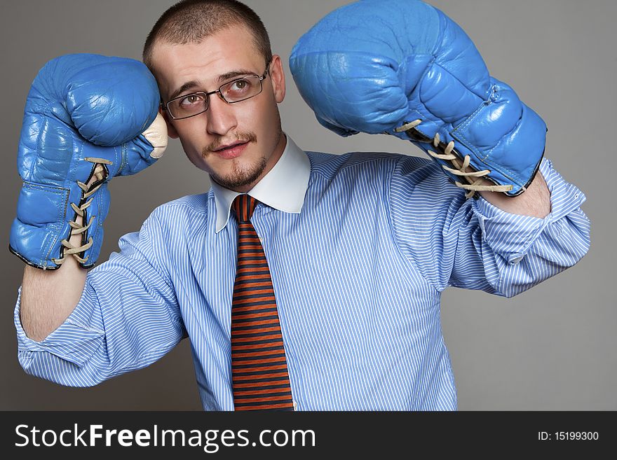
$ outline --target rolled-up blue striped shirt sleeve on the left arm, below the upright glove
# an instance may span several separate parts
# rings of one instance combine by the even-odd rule
[[[120,252],[88,272],[72,314],[41,342],[22,328],[18,295],[14,321],[22,368],[58,384],[90,386],[144,368],[175,347],[186,332],[162,263],[167,239],[154,214],[140,232],[123,236]]]

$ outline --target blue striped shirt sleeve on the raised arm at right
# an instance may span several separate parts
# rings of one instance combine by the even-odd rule
[[[399,160],[390,188],[395,242],[438,291],[522,293],[577,263],[590,246],[585,195],[547,158],[540,172],[550,190],[545,218],[510,214],[482,197],[467,200],[435,163]]]

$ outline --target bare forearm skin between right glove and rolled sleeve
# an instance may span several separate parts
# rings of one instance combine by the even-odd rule
[[[494,184],[484,180],[482,185]],[[499,192],[479,193],[484,200],[510,214],[545,218],[550,213],[550,191],[539,171],[527,190],[516,197],[508,197]]]

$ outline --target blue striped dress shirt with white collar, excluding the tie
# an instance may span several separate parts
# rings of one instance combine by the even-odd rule
[[[304,152],[287,137],[249,194],[271,270],[297,410],[456,410],[440,325],[449,286],[510,297],[588,250],[585,196],[541,163],[545,218],[466,200],[438,165],[394,153]],[[233,410],[231,298],[238,193],[163,204],[88,273],[74,312],[29,339],[26,372],[88,386],[143,368],[191,340],[205,410]]]

